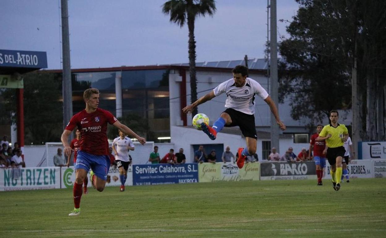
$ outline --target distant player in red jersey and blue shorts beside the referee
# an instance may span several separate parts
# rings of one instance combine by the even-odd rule
[[[319,137],[319,133],[322,131],[322,129],[322,125],[317,125],[317,133],[311,136],[310,149],[308,150],[308,158],[311,158],[311,151],[313,151],[313,157],[316,165],[316,175],[318,177],[318,185],[323,185],[323,168],[326,167],[326,155],[324,151],[326,147],[325,142],[316,140],[316,138]]]

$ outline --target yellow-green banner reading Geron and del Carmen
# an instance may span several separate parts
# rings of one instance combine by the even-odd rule
[[[198,182],[260,180],[259,163],[246,163],[242,169],[232,163],[198,164]]]

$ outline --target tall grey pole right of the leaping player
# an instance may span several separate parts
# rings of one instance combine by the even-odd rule
[[[270,67],[270,85],[271,98],[276,107],[278,107],[278,42],[276,30],[276,0],[271,0],[271,67]],[[279,148],[279,127],[276,123],[276,118],[273,114],[271,116],[271,148],[275,147],[280,153]]]

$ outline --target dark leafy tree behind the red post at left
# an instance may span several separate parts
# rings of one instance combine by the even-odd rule
[[[63,132],[61,81],[44,71],[24,75],[25,144],[60,141]],[[15,89],[2,93],[7,111],[17,113]],[[15,118],[13,118],[15,121]]]

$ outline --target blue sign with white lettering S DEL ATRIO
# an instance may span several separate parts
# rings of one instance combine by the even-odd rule
[[[47,54],[42,51],[10,51],[0,49],[0,67],[47,68]]]

